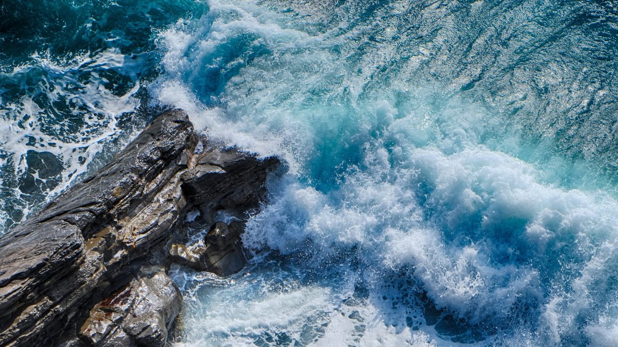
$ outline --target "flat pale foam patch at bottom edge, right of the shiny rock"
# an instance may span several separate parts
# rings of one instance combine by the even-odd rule
[[[185,310],[190,315],[182,316],[184,338],[176,345],[249,346],[260,337],[279,333],[302,340],[303,326],[318,324],[316,312],[333,309],[328,288],[299,287],[286,280],[277,287],[277,281],[266,278],[264,281],[271,283],[269,290],[255,292],[250,287],[261,280],[251,278],[237,285],[234,279],[226,280],[222,285],[229,286],[227,291],[203,281],[204,287],[194,296],[200,302],[187,302]]]

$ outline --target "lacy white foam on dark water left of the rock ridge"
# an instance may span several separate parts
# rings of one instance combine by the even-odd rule
[[[103,86],[104,79],[91,71],[88,81],[78,85],[78,90],[72,91],[71,85],[75,81],[74,72],[87,72],[94,67],[99,69],[120,69],[124,56],[117,49],[108,49],[99,52],[93,57],[84,54],[67,65],[55,64],[45,55],[35,55],[38,64],[34,67],[16,67],[5,78],[19,80],[20,74],[29,73],[33,69],[44,70],[51,78],[48,82],[53,87],[41,86],[35,94],[26,94],[19,101],[4,101],[2,107],[4,115],[0,117],[0,132],[7,136],[0,138],[0,146],[7,152],[7,156],[0,161],[3,170],[13,171],[11,177],[19,177],[25,172],[28,151],[49,152],[54,154],[63,167],[60,183],[53,190],[44,191],[46,201],[57,193],[65,190],[75,179],[87,172],[96,154],[114,140],[118,140],[122,133],[117,124],[117,117],[133,112],[137,109],[138,99],[135,94],[139,90],[139,81],[135,81],[132,89],[124,95],[117,96]],[[44,82],[41,82],[44,83]],[[76,124],[71,120],[54,120],[49,110],[42,109],[35,101],[43,93],[49,102],[67,102],[67,106],[75,110],[72,117],[78,117]],[[70,103],[70,105],[69,105]],[[53,127],[49,129],[49,127]],[[69,127],[78,127],[69,130]],[[126,139],[125,139],[126,140]],[[5,182],[2,182],[5,185]],[[23,200],[23,193],[19,188],[12,192],[12,203],[21,201],[25,215],[32,209],[33,201]],[[0,215],[4,222],[8,215]],[[15,222],[19,222],[16,220]]]

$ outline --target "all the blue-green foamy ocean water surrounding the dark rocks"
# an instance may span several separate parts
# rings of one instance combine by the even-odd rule
[[[0,14],[5,229],[169,107],[286,161],[248,222],[242,272],[172,267],[173,345],[618,345],[613,2]]]

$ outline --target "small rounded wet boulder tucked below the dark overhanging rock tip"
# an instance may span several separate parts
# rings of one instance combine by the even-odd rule
[[[174,261],[192,269],[229,276],[245,265],[240,246],[241,233],[240,222],[234,221],[230,225],[216,222],[206,236],[195,243],[172,243],[169,254]]]

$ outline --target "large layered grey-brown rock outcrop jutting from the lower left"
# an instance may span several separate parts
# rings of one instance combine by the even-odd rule
[[[163,304],[157,290],[171,282],[144,266],[167,264],[189,209],[214,222],[221,209],[258,207],[277,165],[200,140],[182,110],[160,115],[103,169],[0,238],[0,345],[160,343],[177,311],[135,303]],[[153,278],[163,287],[144,296]],[[107,313],[120,317],[102,327],[96,318]]]

